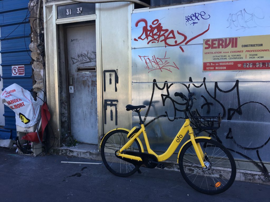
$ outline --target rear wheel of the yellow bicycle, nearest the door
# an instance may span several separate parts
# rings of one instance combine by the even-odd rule
[[[127,134],[128,132],[125,130],[114,130],[104,137],[101,144],[101,157],[105,167],[111,173],[120,177],[133,175],[140,168],[139,165],[126,162],[115,155],[115,151],[126,144]],[[134,151],[134,149],[141,152],[141,147],[136,139],[126,151]]]

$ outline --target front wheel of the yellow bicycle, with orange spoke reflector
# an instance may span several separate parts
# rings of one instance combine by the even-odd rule
[[[201,168],[194,147],[188,142],[179,156],[179,168],[184,180],[204,194],[219,194],[230,188],[236,176],[236,166],[231,153],[214,140],[197,139],[204,153],[205,169]]]

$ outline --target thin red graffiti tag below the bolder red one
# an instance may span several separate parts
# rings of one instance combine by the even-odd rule
[[[173,65],[170,64],[170,61],[168,61],[170,58],[169,57],[166,58],[166,53],[167,53],[167,51],[165,52],[165,55],[164,55],[163,58],[158,58],[155,55],[153,55],[151,57],[149,57],[149,56],[140,56],[139,55],[139,57],[140,57],[141,61],[145,62],[145,64],[146,64],[145,68],[150,70],[149,72],[151,72],[153,70],[158,70],[158,69],[161,72],[162,72],[163,69],[165,69],[165,70],[167,70],[169,72],[172,72],[171,67],[179,69],[174,62],[172,62]]]

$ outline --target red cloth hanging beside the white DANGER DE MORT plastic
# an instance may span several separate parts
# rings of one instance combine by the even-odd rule
[[[47,104],[44,102],[41,106],[41,133],[39,133],[40,140],[42,141],[44,130],[50,120],[50,112],[48,109]],[[38,126],[37,126],[38,127]],[[30,142],[39,142],[38,133],[27,133],[25,136],[22,137],[22,140],[28,140]]]

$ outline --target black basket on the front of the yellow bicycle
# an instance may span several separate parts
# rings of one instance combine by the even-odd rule
[[[220,113],[218,116],[197,116],[193,111],[191,121],[200,130],[217,130],[220,127],[221,117]]]

